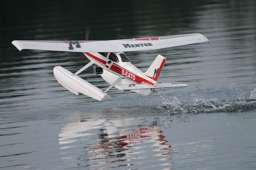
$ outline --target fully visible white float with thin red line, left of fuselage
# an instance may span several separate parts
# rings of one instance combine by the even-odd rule
[[[111,100],[111,97],[101,89],[81,79],[77,75],[74,75],[63,67],[54,67],[53,74],[63,87],[76,95],[84,94],[98,101]]]

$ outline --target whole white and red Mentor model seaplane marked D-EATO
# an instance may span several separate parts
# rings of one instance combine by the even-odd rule
[[[12,44],[18,50],[50,50],[82,52],[90,60],[78,72],[71,73],[63,67],[56,66],[53,73],[58,82],[76,95],[87,95],[96,100],[110,100],[106,93],[112,87],[122,91],[134,91],[142,95],[155,93],[158,88],[186,87],[185,83],[160,83],[159,75],[166,58],[158,55],[148,70],[143,73],[135,67],[123,52],[156,50],[188,44],[209,42],[202,34],[185,34],[157,36],[109,41],[30,41],[16,40]],[[86,68],[96,64],[94,72],[111,84],[105,91],[78,77]]]

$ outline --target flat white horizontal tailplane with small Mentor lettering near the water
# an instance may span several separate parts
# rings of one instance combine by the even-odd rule
[[[187,87],[189,85],[181,82],[174,83],[157,83],[155,86],[150,86],[147,83],[138,83],[138,84],[126,84],[116,86],[118,89],[123,91],[128,90],[139,90],[139,89],[159,89],[159,88],[173,88],[173,87]]]

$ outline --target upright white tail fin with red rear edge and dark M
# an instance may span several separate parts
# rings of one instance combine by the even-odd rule
[[[162,68],[164,67],[165,60],[165,57],[158,55],[154,62],[151,64],[151,66],[148,68],[148,70],[144,73],[144,75],[146,75],[150,79],[157,81],[162,71]]]

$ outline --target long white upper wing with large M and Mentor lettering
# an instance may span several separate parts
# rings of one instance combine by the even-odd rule
[[[184,34],[108,41],[15,40],[12,41],[12,44],[20,51],[30,49],[68,52],[126,52],[156,50],[201,42],[209,42],[209,40],[202,34]]]

